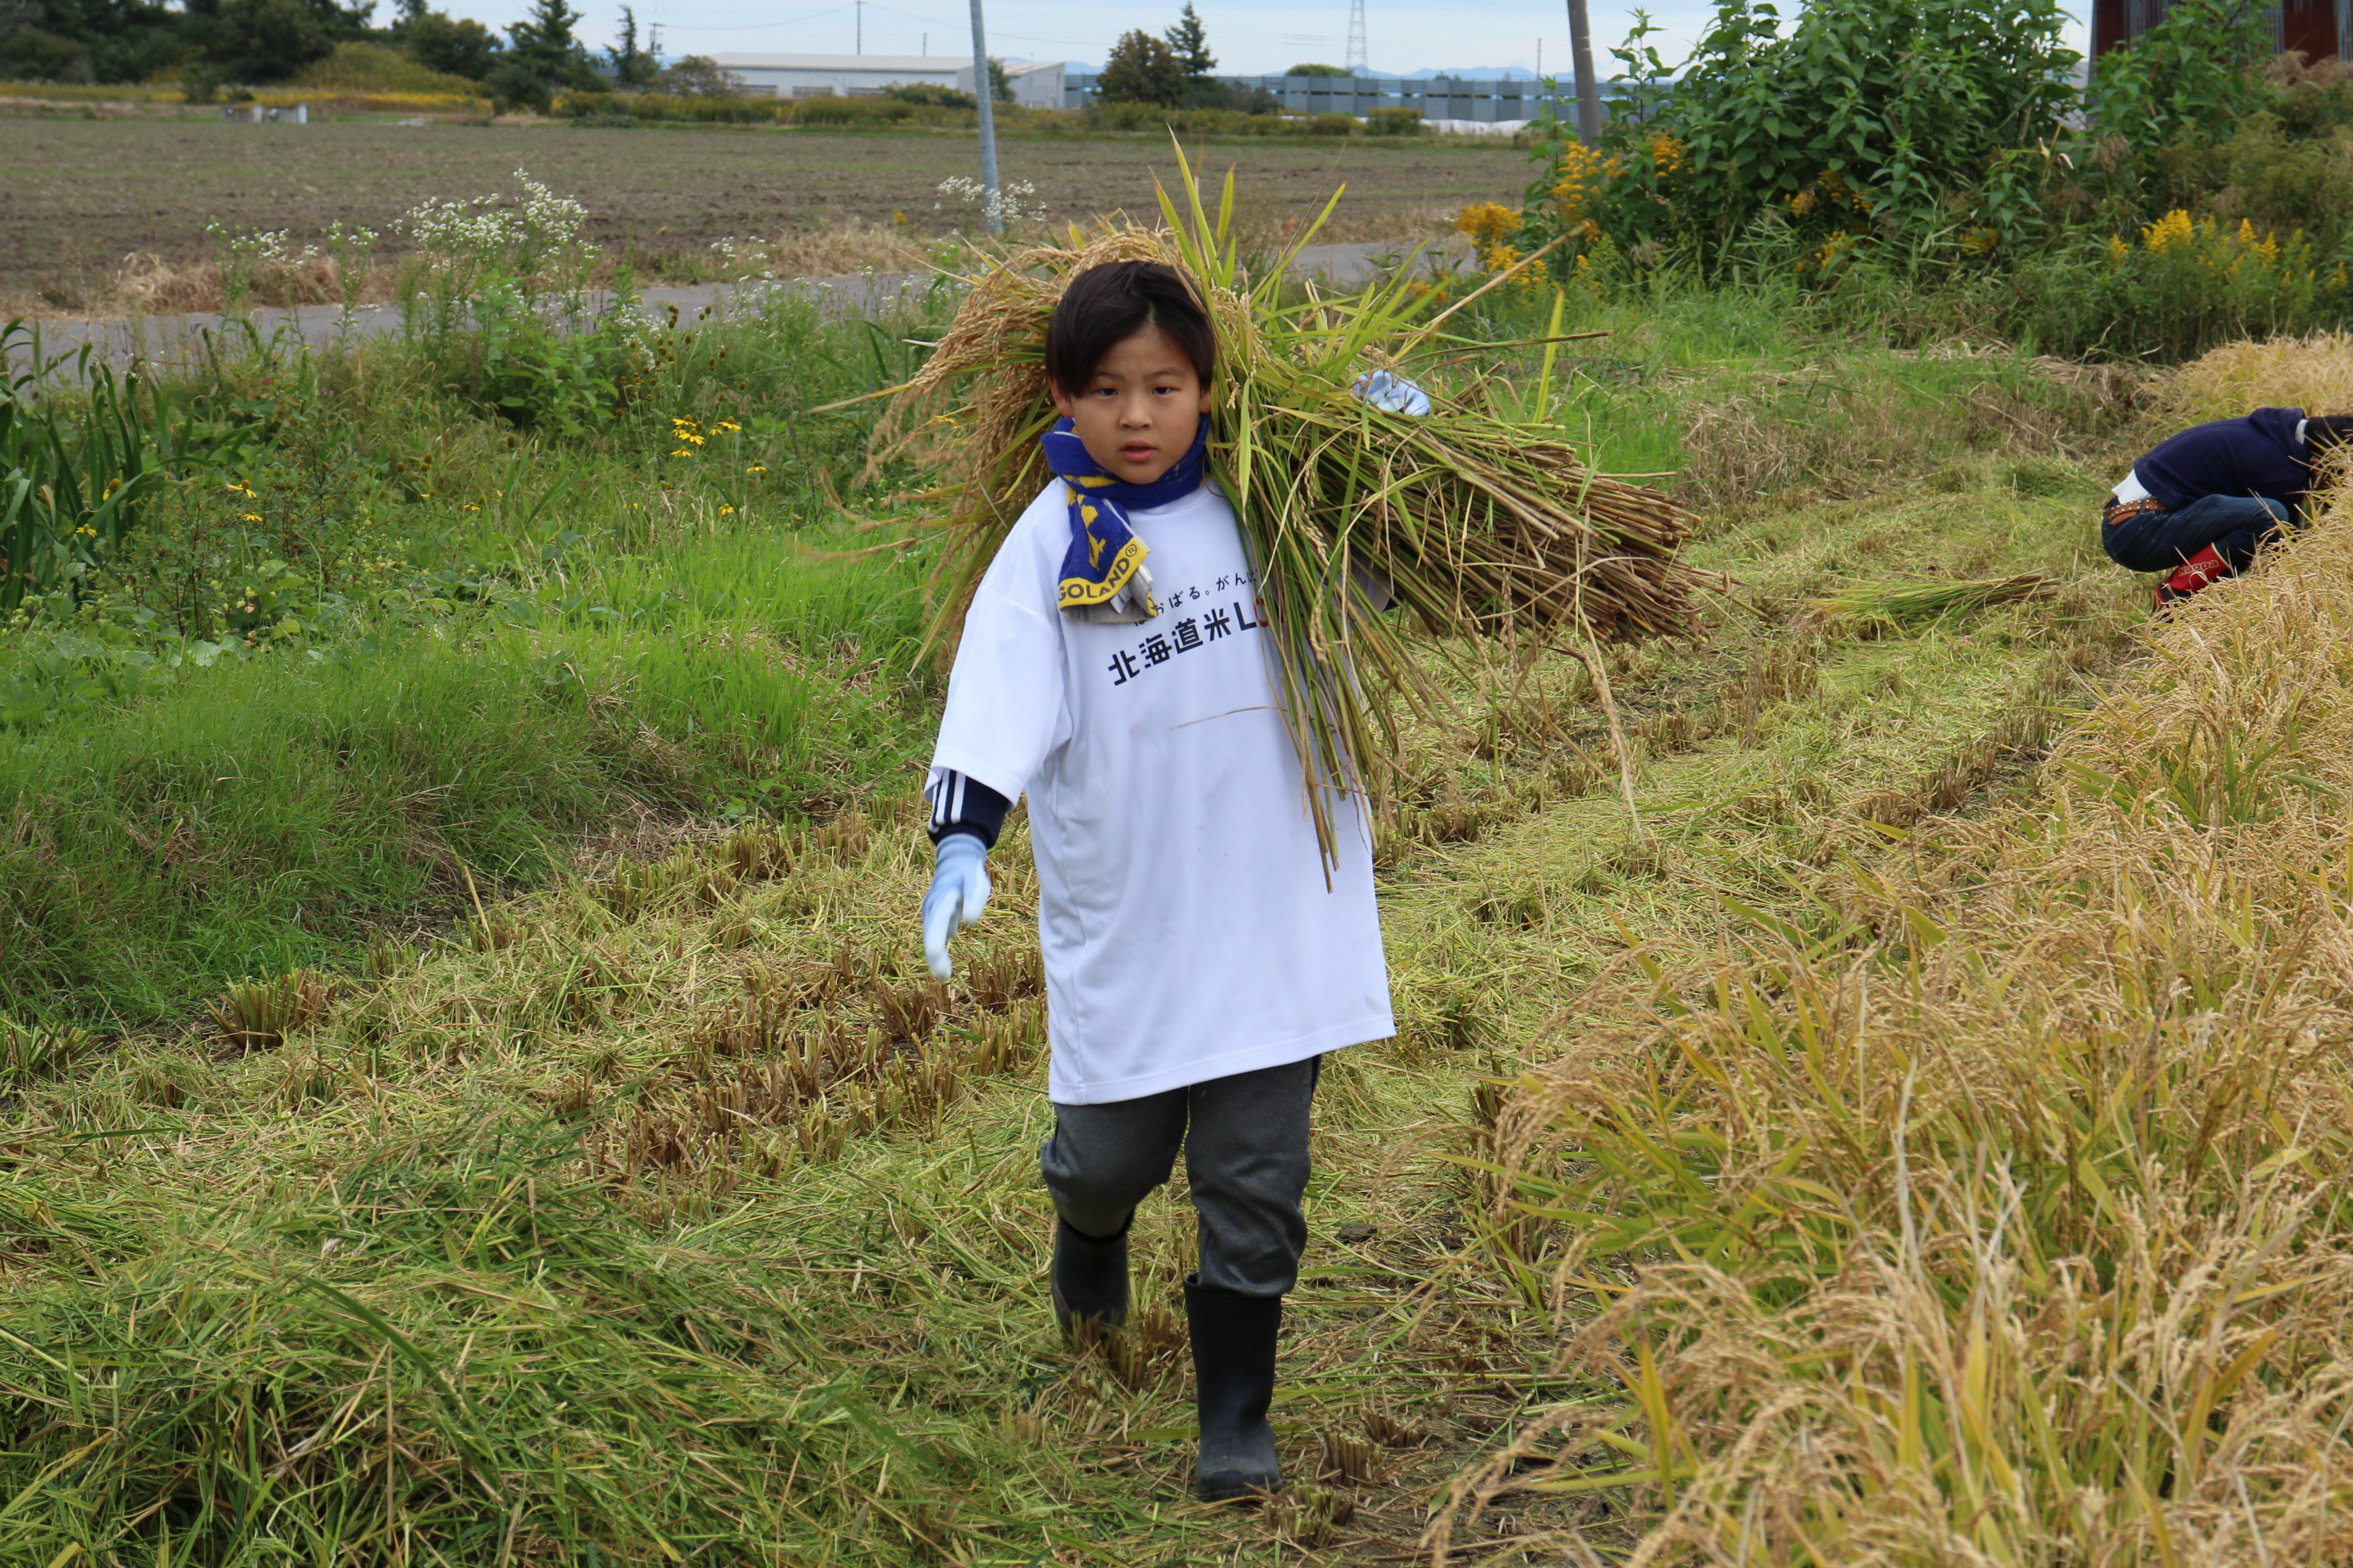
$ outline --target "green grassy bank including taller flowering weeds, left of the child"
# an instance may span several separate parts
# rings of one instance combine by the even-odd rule
[[[245,458],[0,646],[9,1011],[184,1018],[228,980],[355,969],[454,917],[466,875],[536,884],[647,818],[826,816],[915,764],[915,562],[824,501],[861,428],[800,414],[904,346],[786,308],[704,329],[713,374],[687,331],[588,444],[515,444],[431,346],[202,388],[261,430]],[[685,409],[713,435],[678,458]]]

